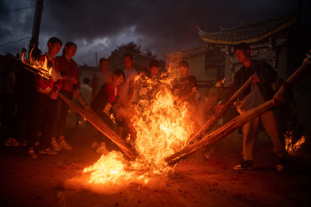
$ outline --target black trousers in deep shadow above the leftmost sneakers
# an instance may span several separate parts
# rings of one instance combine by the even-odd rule
[[[32,113],[35,94],[35,91],[16,94],[16,116],[12,127],[10,127],[8,137],[13,137],[18,141],[25,140],[27,116]],[[29,126],[27,126],[27,128],[28,127]]]

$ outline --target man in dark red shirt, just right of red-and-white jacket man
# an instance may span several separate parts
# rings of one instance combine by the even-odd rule
[[[63,88],[59,92],[69,100],[72,100],[73,94],[79,95],[80,89],[78,64],[72,59],[76,52],[77,45],[73,42],[67,42],[63,48],[63,55],[55,58],[64,80]],[[72,147],[64,140],[66,119],[70,106],[62,98],[58,98],[57,102],[57,113],[53,121],[53,135],[49,147],[54,151],[72,150]],[[56,137],[58,137],[57,141],[55,140]]]

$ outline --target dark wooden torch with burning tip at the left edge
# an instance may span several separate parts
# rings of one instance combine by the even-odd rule
[[[52,78],[52,76],[49,74],[49,71],[44,70],[42,68],[34,68],[31,67],[30,65],[26,65],[18,60],[15,60],[14,58],[7,58],[3,55],[0,55],[0,59],[10,63],[11,65],[15,66],[15,67],[19,67],[24,71],[30,72],[32,74],[34,74],[35,76],[39,76],[40,78],[42,78],[45,81],[49,81],[50,78]]]

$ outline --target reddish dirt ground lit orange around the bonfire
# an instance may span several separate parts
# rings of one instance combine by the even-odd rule
[[[71,115],[72,119],[74,118]],[[67,124],[66,141],[73,150],[55,155],[25,156],[26,147],[5,147],[0,154],[0,206],[310,206],[310,140],[288,156],[286,170],[276,169],[273,143],[260,133],[254,170],[237,171],[242,135],[234,134],[178,163],[175,172],[150,184],[125,183],[109,194],[64,188],[100,154],[91,148],[92,130]],[[108,146],[113,150],[115,147]]]

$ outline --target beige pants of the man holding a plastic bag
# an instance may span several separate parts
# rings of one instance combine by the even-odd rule
[[[275,153],[278,156],[285,156],[288,152],[285,150],[285,136],[281,124],[279,110],[267,111],[262,115],[253,118],[243,126],[243,158],[253,159],[254,145],[258,139],[259,117],[262,120],[263,127],[271,136],[274,143]]]

